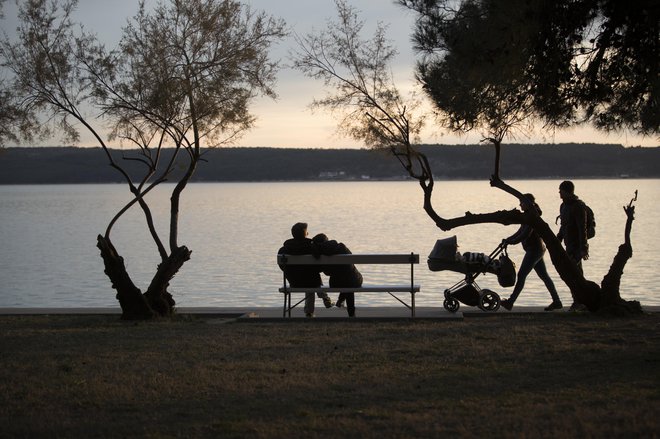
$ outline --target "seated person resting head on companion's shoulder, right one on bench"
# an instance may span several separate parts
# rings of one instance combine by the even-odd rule
[[[319,257],[320,255],[350,255],[351,251],[342,242],[329,240],[328,237],[319,233],[312,238],[312,251],[313,255]],[[355,287],[362,286],[362,274],[353,264],[346,265],[324,265],[323,273],[330,277],[329,284],[331,287]],[[343,306],[346,302],[346,310],[349,317],[355,317],[355,293],[339,293],[337,298],[337,306]]]

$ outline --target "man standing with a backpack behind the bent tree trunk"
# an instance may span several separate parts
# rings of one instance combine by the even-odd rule
[[[559,185],[559,196],[562,200],[559,207],[561,225],[557,239],[564,241],[568,257],[582,273],[582,260],[589,259],[589,244],[587,243],[587,215],[584,203],[575,195],[575,185],[572,181],[562,181]],[[573,304],[571,309],[575,309]]]

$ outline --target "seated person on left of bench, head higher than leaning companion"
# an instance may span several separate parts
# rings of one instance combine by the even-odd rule
[[[291,227],[291,235],[293,238],[284,241],[284,244],[282,244],[282,247],[277,252],[278,254],[312,254],[312,240],[307,237],[307,223],[294,224],[293,227]],[[323,285],[323,282],[321,281],[320,266],[286,265],[283,267],[280,265],[280,269],[284,271],[284,276],[292,287],[320,287]],[[326,293],[318,293],[318,296],[323,299],[323,304],[326,308],[330,308],[334,305]],[[305,294],[305,315],[307,317],[314,317],[315,301],[316,298],[314,293]]]

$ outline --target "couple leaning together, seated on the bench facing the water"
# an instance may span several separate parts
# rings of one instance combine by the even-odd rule
[[[329,240],[328,237],[319,233],[313,239],[307,237],[307,224],[296,223],[291,227],[293,238],[288,239],[279,250],[279,254],[289,255],[350,255],[351,251],[341,242]],[[362,274],[353,264],[345,265],[286,265],[280,268],[284,271],[286,279],[292,287],[320,287],[323,285],[321,272],[329,276],[331,287],[355,287],[362,286]],[[326,308],[333,306],[332,300],[325,292],[317,293],[323,299]],[[314,293],[305,293],[305,316],[314,317]],[[337,306],[342,307],[346,302],[349,317],[355,317],[355,294],[340,293]]]

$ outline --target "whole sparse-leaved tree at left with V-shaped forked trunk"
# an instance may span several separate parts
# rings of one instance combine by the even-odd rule
[[[5,39],[2,44],[3,66],[12,75],[8,91],[21,98],[24,111],[41,116],[48,133],[75,141],[78,128],[86,129],[123,176],[133,199],[98,236],[105,272],[117,290],[123,318],[169,315],[175,305],[169,282],[191,257],[179,243],[181,194],[203,159],[203,149],[220,146],[252,126],[249,104],[254,97],[275,96],[278,66],[269,60],[268,50],[284,36],[284,23],[232,0],[172,0],[152,11],[141,2],[119,48],[107,51],[72,21],[76,4],[35,0],[21,5],[18,41]],[[96,116],[83,112],[89,108]],[[139,153],[117,157],[102,136],[107,127],[111,138],[129,142]],[[168,144],[174,151],[164,160]],[[143,173],[129,175],[126,161],[143,164]],[[163,240],[147,195],[175,177],[175,165],[183,165],[184,172],[170,197],[168,239]],[[113,226],[136,205],[161,260],[144,294],[111,241]]]

